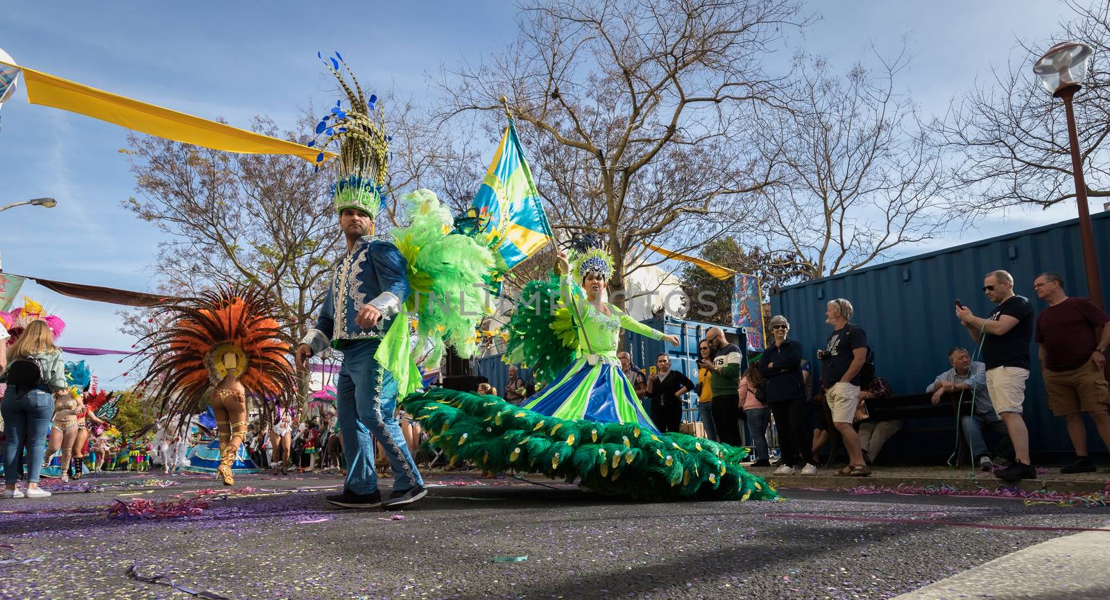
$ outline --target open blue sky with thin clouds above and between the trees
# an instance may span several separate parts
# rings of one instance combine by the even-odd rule
[[[20,63],[239,126],[254,114],[269,114],[292,128],[301,108],[329,101],[316,51],[339,50],[367,87],[394,85],[421,96],[425,73],[444,62],[497,52],[516,32],[516,9],[500,0],[342,8],[286,1],[6,4],[0,48]],[[900,82],[926,114],[942,112],[991,64],[1006,63],[1016,38],[1049,39],[1067,12],[1062,2],[1036,0],[813,2],[810,10],[823,10],[823,19],[804,34],[791,34],[789,43],[826,54],[838,68],[866,58],[870,42],[896,51],[909,35],[915,58]],[[784,50],[769,60],[781,64],[788,55]],[[134,195],[127,156],[119,153],[127,131],[30,105],[22,89],[3,104],[0,124],[0,204],[37,196],[59,203],[51,210],[22,206],[0,213],[4,271],[153,288],[145,266],[159,233],[120,207]],[[1015,213],[991,234],[1071,216],[1073,207],[1067,206]],[[932,247],[977,235],[953,235]],[[134,343],[117,330],[114,306],[67,298],[30,283],[23,293],[67,321],[64,345],[125,349]],[[124,384],[112,382],[127,370],[115,358],[90,363],[109,387]]]

